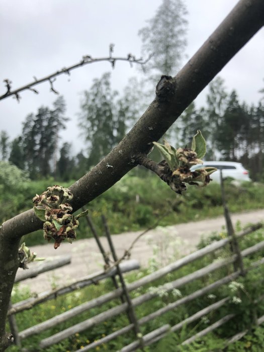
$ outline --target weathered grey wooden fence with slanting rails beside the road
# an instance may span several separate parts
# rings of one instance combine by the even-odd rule
[[[242,231],[238,234],[233,233],[232,236],[229,236],[229,237],[224,238],[222,240],[213,242],[212,244],[210,244],[202,249],[199,249],[196,252],[193,252],[193,253],[171,263],[170,265],[168,265],[164,268],[161,268],[161,269],[157,270],[156,272],[149,274],[149,275],[147,275],[147,276],[145,276],[135,282],[127,284],[127,285],[125,284],[125,281],[122,276],[121,268],[122,268],[123,263],[117,264],[115,268],[111,269],[111,271],[114,270],[114,272],[110,271],[110,272],[106,272],[105,274],[101,273],[100,275],[101,276],[104,276],[104,275],[109,276],[111,273],[111,275],[113,277],[114,274],[117,274],[120,277],[121,287],[117,286],[117,288],[115,290],[113,290],[112,292],[109,292],[107,294],[104,294],[102,296],[94,298],[94,299],[87,301],[83,304],[80,304],[79,306],[74,307],[64,313],[61,313],[61,314],[59,314],[49,320],[46,320],[42,323],[39,323],[35,326],[32,326],[26,330],[20,331],[18,333],[18,339],[22,340],[22,339],[25,339],[31,335],[38,334],[46,329],[57,326],[65,321],[67,321],[68,319],[79,315],[80,313],[83,313],[83,312],[88,311],[88,310],[95,308],[95,307],[102,306],[104,303],[109,302],[113,299],[120,298],[121,304],[119,304],[111,309],[108,309],[107,311],[104,311],[98,315],[95,315],[89,319],[81,321],[78,324],[75,324],[69,328],[66,328],[62,331],[59,331],[58,333],[56,333],[50,337],[47,337],[47,338],[41,340],[39,343],[39,346],[41,348],[46,348],[48,346],[51,346],[55,343],[60,342],[61,340],[65,339],[65,338],[68,338],[69,336],[71,336],[75,333],[79,333],[84,330],[87,330],[87,338],[89,338],[89,328],[92,328],[96,324],[102,323],[102,322],[106,321],[107,319],[110,319],[110,318],[117,316],[119,314],[122,314],[122,313],[128,314],[128,318],[130,321],[129,325],[127,325],[127,326],[125,326],[125,327],[105,336],[105,337],[102,337],[101,339],[94,341],[94,342],[82,347],[81,349],[78,349],[77,352],[92,350],[93,348],[96,348],[97,346],[99,346],[103,343],[107,343],[107,342],[111,341],[112,339],[114,339],[118,336],[121,336],[123,334],[126,334],[127,332],[129,332],[131,330],[134,330],[135,341],[130,343],[127,346],[124,346],[121,349],[122,352],[134,351],[138,348],[142,348],[143,346],[146,346],[146,345],[149,345],[153,342],[156,342],[160,338],[164,337],[169,331],[172,331],[172,332],[178,331],[183,326],[200,319],[201,317],[208,314],[209,312],[212,312],[212,311],[214,311],[214,310],[216,310],[216,309],[218,309],[228,303],[229,297],[223,298],[220,301],[218,301],[212,305],[209,305],[208,307],[196,312],[194,315],[189,316],[188,318],[186,318],[185,320],[179,322],[178,324],[176,324],[174,326],[170,326],[169,324],[165,324],[164,326],[161,326],[154,331],[150,331],[149,333],[145,334],[144,336],[142,336],[142,334],[140,333],[140,327],[143,324],[145,324],[155,318],[160,317],[162,314],[169,312],[169,311],[179,307],[180,305],[191,302],[194,299],[201,297],[201,296],[211,292],[212,290],[215,290],[216,288],[218,288],[222,285],[225,285],[231,281],[236,280],[240,275],[243,275],[243,276],[246,275],[250,270],[252,270],[252,269],[260,266],[262,263],[264,263],[264,257],[263,257],[260,260],[252,262],[248,268],[244,268],[244,266],[243,266],[243,258],[252,254],[252,253],[259,251],[260,249],[263,249],[264,248],[264,241],[256,243],[255,245],[253,245],[249,248],[246,248],[242,251],[240,251],[239,245],[238,245],[240,238],[242,238],[243,236],[261,228],[262,226],[263,225],[261,223],[259,223],[259,224],[255,224],[255,225],[251,226],[250,228],[248,228],[245,231]],[[107,230],[107,225],[106,225],[106,230]],[[109,232],[109,231],[107,230],[107,232]],[[115,249],[114,249],[113,243],[111,241],[111,236],[109,235],[109,233],[107,234],[107,236],[108,236],[110,248],[111,248],[111,251],[113,254],[113,259],[115,262],[118,262],[116,254],[115,254]],[[235,240],[235,249],[234,249],[234,240]],[[140,288],[140,287],[147,285],[149,283],[152,283],[157,279],[163,278],[168,273],[174,272],[174,271],[188,265],[188,263],[191,263],[191,262],[197,260],[198,258],[202,258],[206,254],[213,253],[217,249],[223,248],[226,245],[228,245],[230,247],[230,244],[232,244],[232,246],[233,246],[232,247],[233,254],[231,253],[231,255],[229,257],[224,258],[224,259],[220,259],[220,260],[216,260],[216,261],[210,263],[208,266],[206,266],[202,269],[199,269],[189,275],[186,275],[186,276],[181,277],[177,280],[165,283],[164,285],[159,286],[159,290],[148,291],[148,292],[146,292],[136,298],[133,298],[133,299],[130,298],[129,292],[136,290],[137,288]],[[103,254],[103,252],[102,252],[102,254]],[[107,260],[108,260],[107,256],[104,256],[104,257],[105,257],[105,261],[107,262]],[[162,290],[162,292],[169,292],[169,291],[172,291],[173,289],[178,289],[180,287],[183,287],[184,285],[187,285],[188,283],[193,282],[194,280],[203,278],[204,276],[206,276],[206,275],[208,275],[208,274],[210,274],[220,268],[227,267],[230,264],[235,265],[234,266],[235,270],[232,274],[225,276],[225,277],[221,278],[220,280],[217,280],[217,281],[211,283],[210,285],[205,286],[195,292],[192,292],[188,296],[182,297],[174,302],[171,302],[171,303],[167,304],[166,306],[164,306],[156,311],[153,311],[152,313],[150,313],[140,319],[137,319],[134,308],[140,306],[144,302],[151,300],[154,297],[158,297],[160,290]],[[86,278],[85,280],[83,280],[82,283],[89,282],[89,280],[90,280],[90,284],[91,284],[95,280],[98,280],[98,279],[95,279],[95,277],[93,277],[93,278]],[[60,288],[57,290],[55,295],[69,292],[69,290],[73,290],[76,287],[81,287],[79,285],[82,285],[82,283],[75,283],[75,284],[73,283],[69,287]],[[9,310],[9,315],[15,314],[23,309],[30,309],[30,307],[32,307],[33,305],[38,304],[38,303],[46,300],[47,297],[49,299],[54,298],[54,292],[53,293],[52,292],[43,293],[43,295],[39,296],[38,298],[31,298],[31,299],[26,300],[24,302],[17,303]],[[260,298],[262,298],[262,297],[260,297]],[[257,303],[257,302],[255,302],[255,303]],[[207,334],[208,332],[213,331],[217,327],[223,325],[225,322],[234,318],[234,316],[235,316],[235,314],[233,314],[233,313],[226,315],[225,317],[221,318],[217,322],[213,323],[211,326],[207,327],[206,329],[198,332],[197,334],[195,334],[191,338],[187,339],[182,344],[191,343],[197,337],[201,337],[201,336]],[[258,317],[256,319],[257,324],[260,324],[263,321],[264,321],[264,316]],[[231,342],[241,338],[241,336],[243,336],[246,332],[247,331],[242,331],[239,334],[236,334],[229,341],[227,341],[227,343],[231,343]]]

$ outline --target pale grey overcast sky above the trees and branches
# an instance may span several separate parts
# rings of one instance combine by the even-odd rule
[[[162,0],[2,0],[0,4],[0,94],[6,89],[3,79],[13,81],[13,89],[57,69],[77,63],[83,55],[108,55],[110,43],[115,56],[132,53],[141,56],[138,30],[154,16]],[[236,0],[186,0],[189,15],[188,47],[190,58],[216,29],[237,3]],[[186,59],[187,61],[187,59]],[[183,65],[185,62],[183,62]],[[74,141],[73,153],[82,147],[77,128],[81,92],[89,89],[96,77],[110,71],[107,62],[94,63],[59,76],[54,87],[67,104],[67,130],[63,141]],[[175,72],[176,74],[177,72]],[[139,70],[127,62],[117,62],[112,71],[114,89],[122,93],[128,78],[139,76]],[[223,68],[220,75],[228,90],[235,89],[239,98],[256,103],[264,86],[264,29]],[[21,93],[18,104],[12,97],[0,102],[0,130],[11,138],[21,133],[26,116],[41,106],[51,107],[57,98],[48,83],[36,86],[39,95]],[[204,104],[205,92],[197,99]]]

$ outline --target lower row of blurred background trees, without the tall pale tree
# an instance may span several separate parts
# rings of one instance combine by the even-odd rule
[[[1,131],[1,159],[26,170],[33,180],[81,177],[119,143],[143,113],[148,92],[138,94],[138,84],[132,78],[120,96],[111,87],[109,72],[94,79],[80,103],[78,126],[84,148],[76,155],[72,155],[69,142],[60,140],[69,119],[65,117],[65,101],[59,97],[52,108],[40,107],[37,113],[29,114],[22,123],[21,135],[11,142],[7,132]],[[184,147],[198,129],[208,141],[207,159],[242,162],[253,180],[263,181],[263,97],[257,104],[240,102],[236,91],[227,92],[224,80],[218,76],[209,84],[206,105],[197,108],[195,102],[191,103],[166,138],[172,145]]]

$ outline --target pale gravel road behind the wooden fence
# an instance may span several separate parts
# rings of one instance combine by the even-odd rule
[[[242,226],[249,222],[255,223],[263,219],[264,209],[232,215],[233,224],[239,220]],[[153,256],[154,251],[156,260],[162,265],[166,265],[170,255],[181,257],[194,251],[202,235],[206,236],[213,231],[221,231],[224,225],[224,218],[218,217],[163,228],[157,227],[136,242],[131,258],[137,259],[141,266],[147,266],[149,258]],[[121,256],[141,232],[126,232],[113,235],[112,238],[117,254]],[[106,238],[101,237],[101,240],[106,251],[109,251]],[[45,257],[46,260],[65,254],[71,254],[72,258],[71,264],[68,266],[47,274],[41,274],[34,280],[24,281],[23,285],[30,286],[33,292],[50,289],[52,282],[55,280],[57,284],[70,283],[73,279],[95,273],[103,267],[103,258],[94,238],[81,239],[72,244],[62,243],[56,250],[53,249],[51,244],[34,246],[30,249],[37,252],[39,257]],[[38,264],[33,263],[33,265]]]

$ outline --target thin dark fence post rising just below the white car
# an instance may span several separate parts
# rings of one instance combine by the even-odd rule
[[[245,276],[243,258],[240,252],[239,244],[235,235],[234,227],[232,224],[232,220],[231,220],[229,209],[226,202],[222,168],[220,168],[220,186],[221,186],[222,204],[224,208],[226,230],[227,230],[228,236],[232,238],[232,241],[230,242],[230,249],[233,253],[237,255],[237,259],[236,261],[234,261],[234,271],[236,272],[237,270],[240,270],[241,272],[240,275]]]

